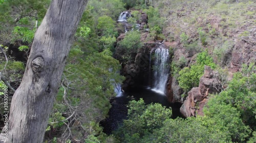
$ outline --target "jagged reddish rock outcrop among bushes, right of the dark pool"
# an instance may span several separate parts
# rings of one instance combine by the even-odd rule
[[[180,111],[184,117],[203,116],[203,107],[207,103],[209,94],[221,92],[221,82],[216,78],[217,73],[208,66],[204,66],[204,75],[200,78],[199,87],[188,92]]]

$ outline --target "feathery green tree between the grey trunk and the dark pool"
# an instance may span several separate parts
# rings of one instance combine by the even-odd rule
[[[76,116],[71,116],[70,120],[79,124],[70,125],[72,135],[88,142],[111,140],[111,137],[102,132],[99,122],[107,116],[111,107],[109,99],[115,96],[112,79],[116,83],[123,80],[119,70],[119,62],[112,58],[109,48],[103,52],[95,51],[84,55],[83,48],[73,47],[63,72],[63,85],[59,89],[51,114],[50,122],[57,123],[50,125],[59,129],[63,125],[59,121],[76,112]],[[84,134],[87,138],[84,138]]]

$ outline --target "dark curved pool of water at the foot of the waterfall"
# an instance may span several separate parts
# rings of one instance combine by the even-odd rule
[[[165,95],[156,93],[145,87],[133,88],[129,92],[123,93],[123,96],[116,97],[111,100],[112,107],[109,111],[109,118],[100,122],[100,125],[104,128],[103,131],[106,134],[111,134],[112,131],[118,127],[118,124],[121,124],[122,120],[126,119],[126,105],[129,103],[129,101],[138,101],[140,98],[142,98],[146,104],[160,103],[167,108],[172,107],[172,118],[182,117],[180,113],[180,107],[182,104],[168,102],[168,99]]]

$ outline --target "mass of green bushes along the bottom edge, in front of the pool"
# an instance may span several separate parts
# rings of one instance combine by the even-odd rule
[[[212,99],[210,99],[212,100]],[[210,102],[210,104],[213,102]],[[145,105],[142,99],[128,105],[128,119],[114,135],[119,142],[232,142],[250,132],[236,108],[212,104],[206,116],[170,119],[171,112],[160,104]],[[217,106],[217,107],[216,107]]]

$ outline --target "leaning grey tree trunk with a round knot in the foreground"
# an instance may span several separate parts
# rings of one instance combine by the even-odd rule
[[[44,139],[76,28],[88,0],[52,0],[35,33],[26,71],[10,109],[7,142]]]

